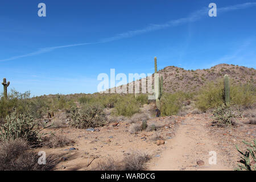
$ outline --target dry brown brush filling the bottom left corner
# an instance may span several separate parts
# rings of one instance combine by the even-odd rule
[[[57,156],[47,155],[45,165],[38,164],[40,156],[28,150],[23,139],[0,143],[0,171],[48,171],[57,163]]]

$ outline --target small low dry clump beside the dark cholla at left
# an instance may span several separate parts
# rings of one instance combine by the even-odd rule
[[[44,138],[43,146],[47,146],[49,148],[57,148],[70,146],[73,143],[74,142],[72,140],[69,140],[64,136],[55,136],[52,134],[51,136]]]

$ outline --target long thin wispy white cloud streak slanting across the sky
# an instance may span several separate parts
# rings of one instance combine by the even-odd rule
[[[247,9],[247,8],[253,7],[253,6],[256,6],[256,2],[247,2],[247,3],[238,4],[238,5],[220,7],[220,8],[217,8],[217,14],[226,13],[228,11]],[[0,62],[16,60],[16,59],[20,59],[22,57],[40,55],[42,53],[51,52],[51,51],[54,51],[54,50],[60,49],[60,48],[86,46],[86,45],[100,44],[100,43],[108,43],[108,42],[113,42],[115,40],[131,38],[133,36],[145,34],[147,32],[161,30],[163,28],[180,26],[181,24],[196,22],[197,20],[199,20],[201,18],[206,18],[208,16],[208,11],[209,11],[208,8],[204,8],[204,9],[197,10],[197,11],[193,12],[192,14],[188,15],[186,18],[179,18],[179,19],[175,19],[175,20],[170,20],[170,21],[168,21],[166,23],[163,23],[163,24],[150,24],[149,26],[141,28],[139,30],[132,30],[132,31],[123,32],[122,34],[117,34],[117,35],[112,36],[110,38],[101,39],[98,42],[70,44],[70,45],[67,45],[67,46],[56,46],[56,47],[41,48],[41,49],[38,49],[38,51],[35,51],[35,52],[27,53],[27,54],[20,55],[20,56],[13,56],[13,57],[10,57],[10,58],[7,58],[7,59],[2,59],[2,60],[0,60]]]

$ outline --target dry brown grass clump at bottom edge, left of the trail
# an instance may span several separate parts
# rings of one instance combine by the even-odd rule
[[[113,159],[107,159],[97,164],[93,171],[143,171],[144,164],[150,160],[150,156],[140,151],[133,151],[121,162]]]

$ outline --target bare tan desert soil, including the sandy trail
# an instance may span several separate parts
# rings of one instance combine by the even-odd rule
[[[117,161],[132,151],[149,154],[152,159],[146,164],[147,170],[233,170],[240,154],[236,145],[245,150],[242,140],[252,141],[256,137],[255,125],[248,125],[247,118],[239,118],[236,127],[212,125],[211,114],[186,114],[184,117],[152,117],[151,106],[144,106],[148,123],[160,125],[157,131],[139,131],[131,134],[129,121],[118,121],[90,132],[65,127],[49,129],[55,135],[65,135],[73,140],[72,146],[60,148],[39,148],[47,155],[57,154],[63,159],[55,170],[90,170],[101,160],[112,158]],[[138,121],[141,123],[141,121]],[[156,140],[166,141],[157,145]],[[69,150],[74,147],[75,150]],[[209,164],[210,151],[216,152],[217,164]],[[197,164],[203,160],[204,164]]]

